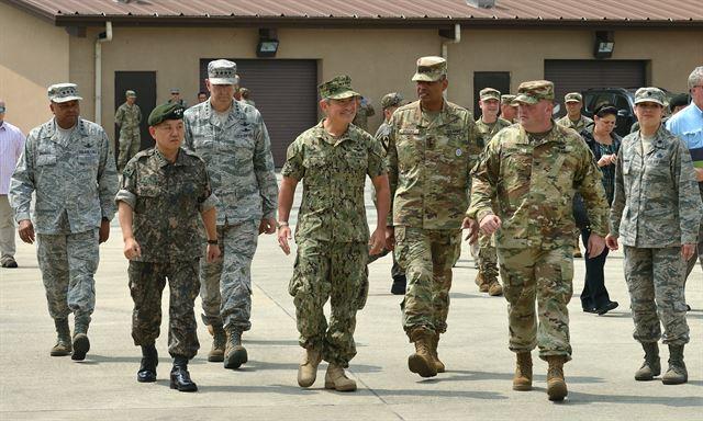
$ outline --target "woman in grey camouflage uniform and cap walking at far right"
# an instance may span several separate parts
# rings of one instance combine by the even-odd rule
[[[635,92],[640,128],[623,139],[617,156],[613,228],[606,241],[611,250],[617,250],[618,237],[625,246],[634,338],[645,350],[635,379],[651,380],[660,374],[657,342],[663,338],[669,345],[669,368],[661,380],[678,385],[688,380],[683,363],[683,345],[689,342],[685,261],[695,253],[703,205],[685,144],[661,124],[663,101],[657,88]]]

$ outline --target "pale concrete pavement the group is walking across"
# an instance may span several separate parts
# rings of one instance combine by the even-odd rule
[[[583,286],[583,261],[577,259],[574,297],[569,305],[574,351],[565,368],[569,397],[563,403],[553,403],[545,392],[546,363],[536,352],[535,389],[511,390],[514,355],[506,345],[506,303],[478,292],[468,247],[454,272],[449,330],[439,346],[447,373],[431,379],[408,371],[412,344],[400,325],[401,298],[389,293],[390,258],[370,266],[370,296],[358,314],[358,355],[349,369],[359,386],[353,394],[323,388],[325,363],[312,388],[298,387],[301,349],[287,292],[293,257],[280,252],[274,236],[260,237],[254,260],[253,329],[244,335],[249,363],[237,371],[208,363],[211,340],[198,318],[201,351],[190,365],[200,387],[197,394],[168,387],[167,292],[157,342],[159,380],[135,380],[141,354],[130,335],[127,262],[116,225],[100,249],[91,350],[85,362],[48,355],[55,333],[34,247],[18,239],[18,249],[20,269],[0,270],[2,420],[694,420],[703,411],[700,265],[687,288],[693,307],[688,314],[691,344],[685,349],[690,380],[663,386],[658,380],[637,383],[633,378],[643,352],[632,339],[622,254],[609,257],[606,264],[611,298],[621,306],[603,317],[581,312],[578,293]],[[200,310],[200,299],[196,308]],[[666,367],[666,349],[662,357]]]

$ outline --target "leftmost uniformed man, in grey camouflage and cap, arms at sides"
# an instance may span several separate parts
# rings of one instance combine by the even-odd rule
[[[83,360],[90,350],[88,325],[96,307],[98,244],[110,236],[118,174],[108,135],[80,118],[81,98],[74,83],[53,84],[54,118],[32,129],[10,184],[10,203],[20,238],[34,242],[54,319],[53,356]],[[36,195],[30,220],[32,193]],[[74,314],[71,343],[68,315]]]

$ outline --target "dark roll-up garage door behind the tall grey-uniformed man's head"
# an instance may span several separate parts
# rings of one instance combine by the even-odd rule
[[[208,62],[200,60],[200,80],[207,91]],[[241,86],[264,116],[271,138],[276,167],[286,162],[286,150],[298,135],[317,123],[317,62],[315,60],[237,59]]]

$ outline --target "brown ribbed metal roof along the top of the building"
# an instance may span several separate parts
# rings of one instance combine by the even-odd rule
[[[51,19],[78,22],[237,21],[260,24],[488,23],[494,24],[693,24],[703,23],[701,0],[498,0],[492,9],[466,0],[2,0]]]

